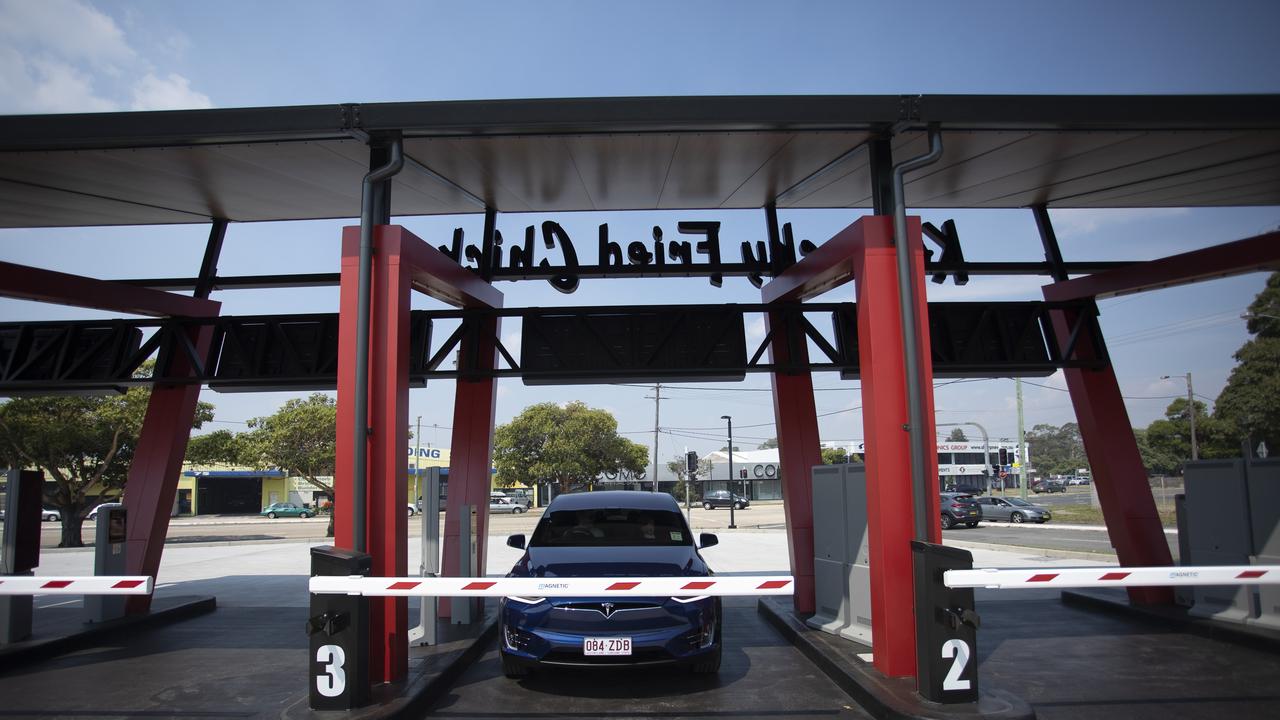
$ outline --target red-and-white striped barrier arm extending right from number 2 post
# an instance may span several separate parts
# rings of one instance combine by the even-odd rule
[[[1128,588],[1138,585],[1280,584],[1280,565],[1175,565],[1165,568],[980,568],[947,570],[948,588]]]

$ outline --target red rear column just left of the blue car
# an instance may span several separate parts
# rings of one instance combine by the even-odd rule
[[[476,348],[474,361],[463,354],[468,343],[463,340],[458,355],[458,368],[492,370],[497,366],[498,318],[483,320],[471,336]],[[474,364],[472,364],[474,363]],[[489,537],[489,491],[493,483],[493,421],[498,401],[498,380],[494,378],[460,377],[453,396],[453,441],[449,448],[449,495],[445,498],[443,564],[445,577],[458,577],[462,562],[458,557],[460,514],[463,505],[476,509],[476,564],[485,574],[485,547]],[[476,603],[479,607],[480,603]],[[440,598],[442,616],[452,611],[452,601]]]

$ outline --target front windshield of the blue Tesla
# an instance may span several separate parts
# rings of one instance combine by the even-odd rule
[[[548,512],[530,547],[689,546],[685,518],[667,510],[608,507]]]

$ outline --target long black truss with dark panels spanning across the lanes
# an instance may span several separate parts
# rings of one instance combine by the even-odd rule
[[[1074,310],[1059,343],[1050,311]],[[748,314],[769,313],[771,332],[753,348]],[[1093,302],[932,302],[929,337],[936,377],[1048,375],[1059,368],[1101,368],[1105,354]],[[518,318],[520,359],[486,320]],[[804,305],[654,305],[643,307],[526,307],[415,310],[410,314],[410,382],[431,378],[520,377],[527,384],[616,380],[741,379],[746,373],[860,373],[856,307]],[[433,348],[436,323],[457,327]],[[196,352],[192,325],[212,325],[209,352]],[[1082,338],[1096,342],[1083,343]],[[143,340],[145,338],[145,340]],[[493,342],[493,370],[447,368],[465,343]],[[813,348],[810,363],[762,361],[771,343]],[[777,354],[794,357],[797,352]],[[150,377],[138,369],[156,357]],[[174,357],[195,366],[175,374]],[[474,356],[463,352],[463,356]],[[0,395],[120,392],[131,386],[201,383],[224,392],[332,389],[338,372],[338,315],[257,315],[0,324]]]

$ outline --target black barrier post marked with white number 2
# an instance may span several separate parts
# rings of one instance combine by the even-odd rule
[[[978,614],[973,588],[952,589],[946,570],[973,569],[973,555],[911,541],[915,571],[916,692],[941,703],[978,701]]]

